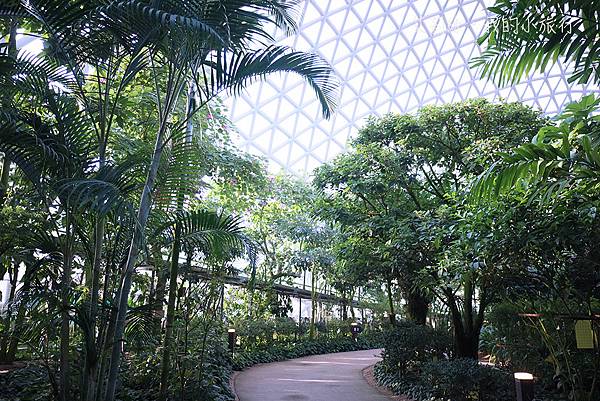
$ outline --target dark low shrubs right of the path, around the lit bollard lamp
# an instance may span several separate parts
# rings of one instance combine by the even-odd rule
[[[453,351],[452,337],[446,331],[407,321],[400,321],[395,328],[386,330],[382,342],[385,347],[383,360],[374,368],[377,382],[414,401],[515,399],[513,372],[522,370],[528,356],[520,350],[520,344],[515,344],[520,351],[511,355],[512,360],[505,359],[502,363],[495,360],[496,365],[458,358]],[[486,347],[482,346],[482,349]],[[539,349],[536,352],[539,358],[543,357],[544,353]],[[550,365],[549,362],[546,364]],[[544,375],[539,369],[526,371],[535,372],[536,400],[569,399],[562,386],[554,385],[559,379],[557,376]],[[582,380],[587,379],[582,377]]]

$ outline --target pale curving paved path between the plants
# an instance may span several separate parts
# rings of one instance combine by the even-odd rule
[[[240,372],[240,401],[389,401],[369,386],[362,370],[381,350],[314,355],[259,365]]]

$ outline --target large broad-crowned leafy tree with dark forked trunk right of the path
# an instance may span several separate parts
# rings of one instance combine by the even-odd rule
[[[487,294],[498,278],[491,273],[500,264],[486,240],[490,231],[475,235],[470,226],[492,223],[485,210],[466,208],[464,197],[500,150],[518,146],[544,123],[521,104],[485,100],[388,115],[369,121],[355,140],[356,150],[338,158],[334,168],[324,167],[315,180],[325,183],[334,200],[348,198],[338,219],[364,216],[360,225],[387,248],[378,246],[376,265],[391,263],[401,272],[398,284],[409,311],[420,310],[425,321],[427,309],[410,306],[411,292],[446,304],[458,355],[477,356],[483,313],[493,299]],[[484,259],[488,268],[472,273]]]

